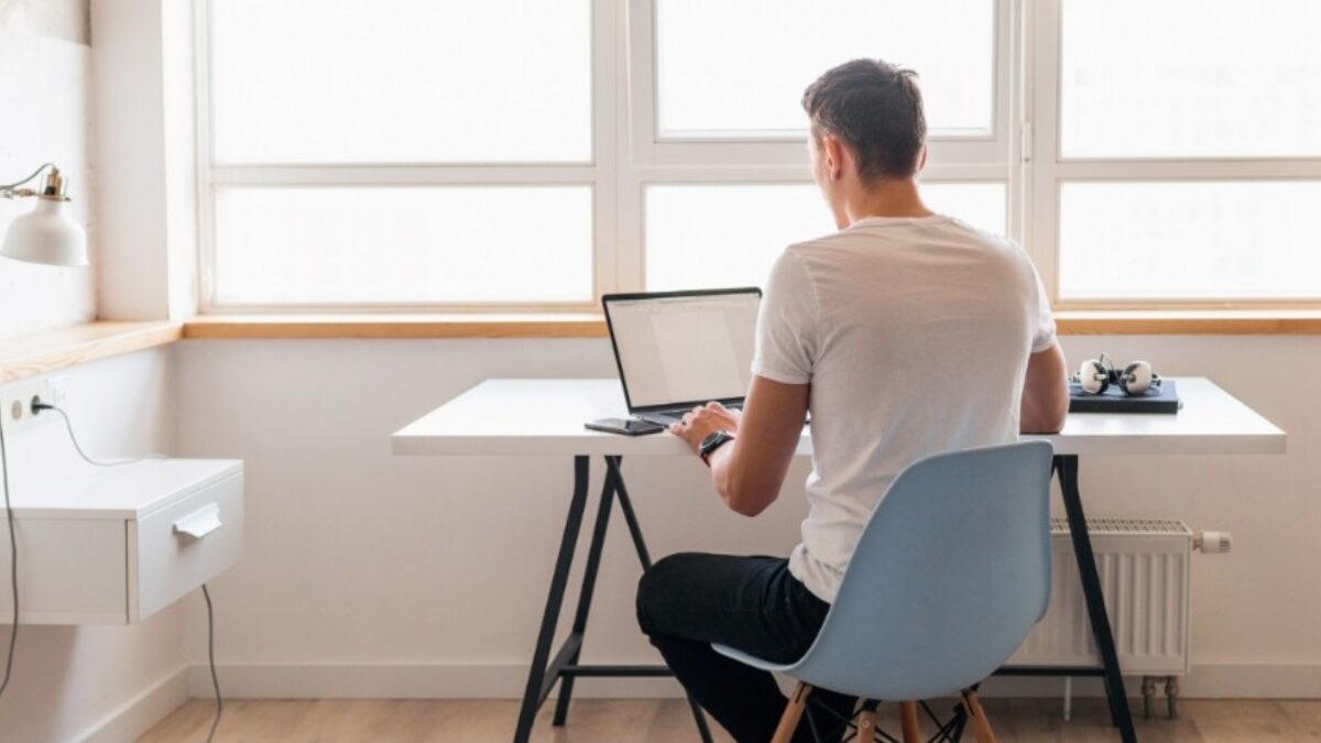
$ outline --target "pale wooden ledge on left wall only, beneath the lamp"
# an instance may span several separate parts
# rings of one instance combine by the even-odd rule
[[[100,321],[0,340],[0,383],[177,341],[180,323]]]

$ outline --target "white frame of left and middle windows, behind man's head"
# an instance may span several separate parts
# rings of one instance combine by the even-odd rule
[[[197,189],[199,311],[223,313],[590,312],[596,297],[641,291],[650,185],[810,182],[806,136],[670,139],[655,123],[655,4],[592,3],[592,160],[581,164],[232,164],[214,163],[210,106],[210,3],[194,0],[197,45]],[[223,0],[219,0],[223,1]],[[1024,120],[1021,0],[995,1],[992,132],[933,136],[923,180],[1005,184],[1009,237],[1024,241],[1028,201],[1021,161]],[[804,81],[804,85],[810,81]],[[217,186],[590,185],[593,297],[583,303],[300,303],[215,301]]]

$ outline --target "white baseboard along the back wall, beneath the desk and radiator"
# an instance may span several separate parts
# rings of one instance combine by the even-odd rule
[[[225,664],[218,670],[226,697],[252,699],[517,699],[527,682],[522,664]],[[1140,684],[1128,680],[1129,697],[1140,695]],[[1321,664],[1198,664],[1178,686],[1184,698],[1321,699]],[[1094,678],[1077,678],[1073,689],[1077,697],[1102,695]],[[188,690],[211,695],[206,665],[189,668]],[[985,686],[988,695],[1001,697],[1062,691],[1059,678],[992,678]],[[1164,694],[1164,685],[1157,691]],[[680,690],[670,678],[584,678],[575,695],[655,698],[678,697]]]

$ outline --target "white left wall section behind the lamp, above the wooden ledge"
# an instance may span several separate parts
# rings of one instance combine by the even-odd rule
[[[70,210],[87,227],[95,200],[90,61],[86,0],[0,0],[0,182],[46,161],[59,165]],[[33,205],[0,200],[0,239]],[[95,234],[89,241],[95,246]],[[91,268],[0,258],[0,337],[91,320],[94,280]]]

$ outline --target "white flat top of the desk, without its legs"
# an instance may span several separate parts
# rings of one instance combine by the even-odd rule
[[[1177,378],[1184,410],[1173,415],[1075,412],[1044,438],[1061,455],[1284,453],[1284,431],[1210,379]],[[618,379],[487,379],[394,435],[394,453],[413,456],[692,456],[670,432],[621,436],[587,420],[626,418]],[[804,427],[799,455],[812,451]]]

